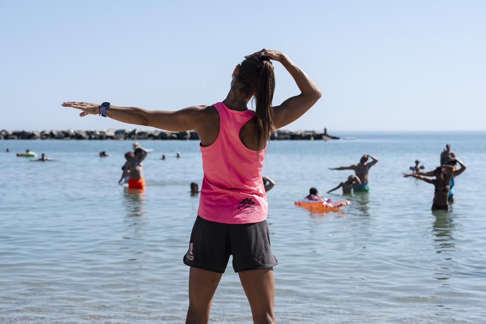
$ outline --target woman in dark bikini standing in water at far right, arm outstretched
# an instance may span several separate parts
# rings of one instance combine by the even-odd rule
[[[437,167],[434,170],[435,179],[429,179],[417,173],[405,173],[403,176],[405,178],[414,177],[433,184],[435,191],[432,210],[449,210],[449,190],[451,188],[449,182],[451,180],[452,172],[452,166],[443,165],[442,167]]]

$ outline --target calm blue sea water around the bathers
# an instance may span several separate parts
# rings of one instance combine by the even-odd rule
[[[277,321],[485,323],[486,133],[345,136],[356,139],[269,144]],[[130,141],[0,141],[0,323],[184,322],[199,142],[140,143],[154,152],[138,195],[117,184]],[[416,159],[432,170],[446,143],[468,169],[455,179],[451,211],[433,213],[434,187],[402,172]],[[58,161],[15,156],[25,149]],[[344,214],[294,206],[310,187],[324,194],[345,180],[350,171],[328,168],[363,153],[379,159],[371,190],[351,196]],[[324,196],[341,199],[336,192]],[[210,323],[250,322],[230,260]]]

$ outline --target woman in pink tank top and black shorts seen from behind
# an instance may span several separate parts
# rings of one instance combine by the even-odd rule
[[[273,61],[294,78],[300,94],[272,106]],[[245,56],[232,73],[226,99],[177,111],[149,111],[104,102],[63,102],[81,117],[103,114],[122,122],[179,132],[196,130],[201,140],[204,178],[198,216],[184,263],[189,273],[186,323],[208,323],[212,297],[229,256],[239,273],[254,322],[275,323],[274,274],[268,204],[261,168],[270,133],[302,116],[321,97],[311,78],[280,51],[263,49]],[[254,98],[255,111],[248,102]],[[108,107],[108,108],[106,108]]]

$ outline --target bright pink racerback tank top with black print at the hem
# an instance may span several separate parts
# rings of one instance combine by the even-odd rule
[[[231,110],[223,102],[213,106],[219,113],[219,134],[214,143],[201,146],[204,178],[197,214],[226,224],[264,221],[268,203],[261,168],[266,146],[257,155],[240,140],[240,129],[255,112]]]

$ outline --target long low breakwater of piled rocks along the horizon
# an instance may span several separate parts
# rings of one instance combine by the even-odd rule
[[[44,130],[44,131],[0,131],[0,140],[16,139],[88,139],[88,140],[124,140],[124,139],[153,139],[153,140],[199,140],[196,131],[168,132],[159,130],[140,130],[140,129],[106,129],[106,130]],[[328,140],[338,139],[316,131],[287,131],[276,130],[272,132],[272,140]]]

